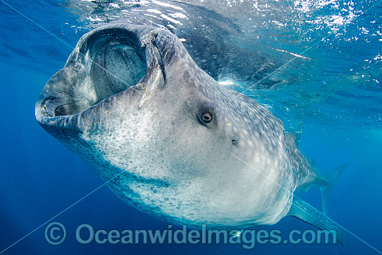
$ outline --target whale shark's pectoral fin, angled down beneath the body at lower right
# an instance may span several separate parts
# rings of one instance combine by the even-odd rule
[[[322,229],[324,233],[333,237],[333,243],[338,241],[344,245],[346,242],[344,229],[339,224],[335,223],[329,217],[301,199],[294,197],[288,215],[297,217],[300,220],[304,220],[304,222]]]

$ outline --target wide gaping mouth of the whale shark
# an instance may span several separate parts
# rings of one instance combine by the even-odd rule
[[[140,45],[129,31],[85,36],[64,69],[48,81],[36,110],[44,117],[74,115],[136,85],[147,72]]]

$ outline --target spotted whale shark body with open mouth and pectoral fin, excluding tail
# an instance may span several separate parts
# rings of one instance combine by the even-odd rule
[[[121,199],[164,220],[233,229],[292,215],[344,242],[338,224],[293,198],[331,182],[281,120],[219,85],[169,31],[113,24],[83,35],[35,116]]]

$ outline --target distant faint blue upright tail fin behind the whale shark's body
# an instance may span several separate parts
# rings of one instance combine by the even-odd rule
[[[344,170],[347,168],[351,161],[347,161],[346,163],[335,167],[330,174],[324,176],[325,184],[319,187],[322,200],[322,212],[324,213],[324,215],[328,213],[329,197],[331,195],[331,190],[333,190],[335,182],[338,180],[342,172],[344,172]]]

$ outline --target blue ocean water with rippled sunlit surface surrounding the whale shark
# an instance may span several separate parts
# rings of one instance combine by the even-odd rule
[[[3,254],[378,254],[369,245],[381,251],[381,1],[0,1],[0,13]],[[267,244],[250,251],[242,245],[79,244],[76,228],[85,223],[107,231],[169,224],[99,188],[103,182],[90,165],[35,121],[38,95],[77,40],[115,21],[163,26],[183,38],[198,65],[222,85],[267,106],[285,129],[303,129],[299,149],[320,172],[354,158],[329,206],[329,217],[352,233],[347,244]],[[297,195],[320,208],[317,188]],[[62,245],[45,239],[49,222],[65,225]],[[315,228],[285,217],[255,229]]]

